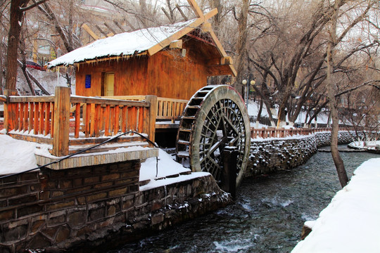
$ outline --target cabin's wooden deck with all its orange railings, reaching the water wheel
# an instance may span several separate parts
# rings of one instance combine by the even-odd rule
[[[155,141],[156,129],[178,129],[178,119],[187,103],[156,96],[70,96],[65,87],[56,87],[54,96],[11,95],[1,96],[8,135],[49,144],[51,154],[58,157],[126,132],[130,133],[120,136],[113,145],[85,152],[151,146],[148,140]]]

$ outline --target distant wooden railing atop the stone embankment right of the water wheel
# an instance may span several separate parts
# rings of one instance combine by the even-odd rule
[[[343,130],[343,129],[341,129]],[[276,128],[262,128],[254,129],[251,128],[251,138],[284,138],[288,136],[296,135],[309,135],[315,134],[321,131],[331,131],[331,128],[317,128],[317,129],[306,129],[306,128],[291,128],[291,129],[276,129]]]

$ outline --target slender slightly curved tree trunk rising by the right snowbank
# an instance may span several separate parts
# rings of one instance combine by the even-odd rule
[[[336,44],[336,21],[338,19],[338,6],[341,0],[335,2],[334,14],[331,17],[331,27],[330,27],[330,39],[327,45],[327,96],[329,98],[329,106],[331,111],[332,127],[331,127],[331,156],[334,160],[336,171],[338,172],[338,178],[341,182],[342,188],[348,183],[348,176],[346,169],[344,168],[343,160],[338,151],[338,130],[339,130],[339,119],[338,119],[338,109],[336,104],[335,92],[334,92],[334,79],[333,74],[333,50]]]

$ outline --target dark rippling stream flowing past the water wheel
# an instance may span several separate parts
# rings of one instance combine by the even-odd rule
[[[379,155],[341,153],[348,176]],[[341,189],[331,153],[317,153],[302,166],[245,179],[236,202],[108,253],[291,252],[303,223],[317,219]]]

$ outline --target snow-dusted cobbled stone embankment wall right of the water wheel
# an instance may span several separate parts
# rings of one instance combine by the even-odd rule
[[[294,138],[252,139],[246,176],[268,174],[304,164],[317,152],[317,148],[329,145],[330,138],[331,132],[320,132]],[[339,144],[351,141],[352,135],[348,131],[339,132]]]

